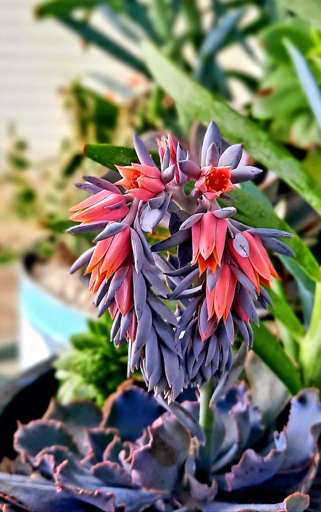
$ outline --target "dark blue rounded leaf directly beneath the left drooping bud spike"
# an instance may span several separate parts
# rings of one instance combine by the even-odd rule
[[[105,408],[104,426],[118,429],[121,439],[131,442],[138,439],[163,412],[153,395],[128,384],[111,395]]]

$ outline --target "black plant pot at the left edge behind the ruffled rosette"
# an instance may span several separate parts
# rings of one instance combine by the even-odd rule
[[[47,410],[58,387],[53,360],[51,357],[0,386],[0,461],[15,456],[12,442],[17,421],[28,423]]]

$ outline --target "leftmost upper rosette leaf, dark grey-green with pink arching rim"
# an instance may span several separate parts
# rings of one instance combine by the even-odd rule
[[[44,448],[55,445],[65,446],[72,453],[79,453],[73,435],[60,421],[34,420],[27,425],[19,424],[14,434],[14,449],[30,457],[36,457]]]

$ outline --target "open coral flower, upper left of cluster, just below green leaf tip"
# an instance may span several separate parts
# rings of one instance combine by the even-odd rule
[[[131,165],[115,165],[123,177],[117,182],[137,199],[149,201],[164,190],[161,173],[157,167],[132,163]]]

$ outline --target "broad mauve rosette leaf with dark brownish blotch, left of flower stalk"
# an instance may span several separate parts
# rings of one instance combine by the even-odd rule
[[[149,443],[135,450],[133,454],[133,482],[145,488],[172,492],[179,484],[181,468],[188,457],[191,436],[168,413],[154,421],[149,432]]]

